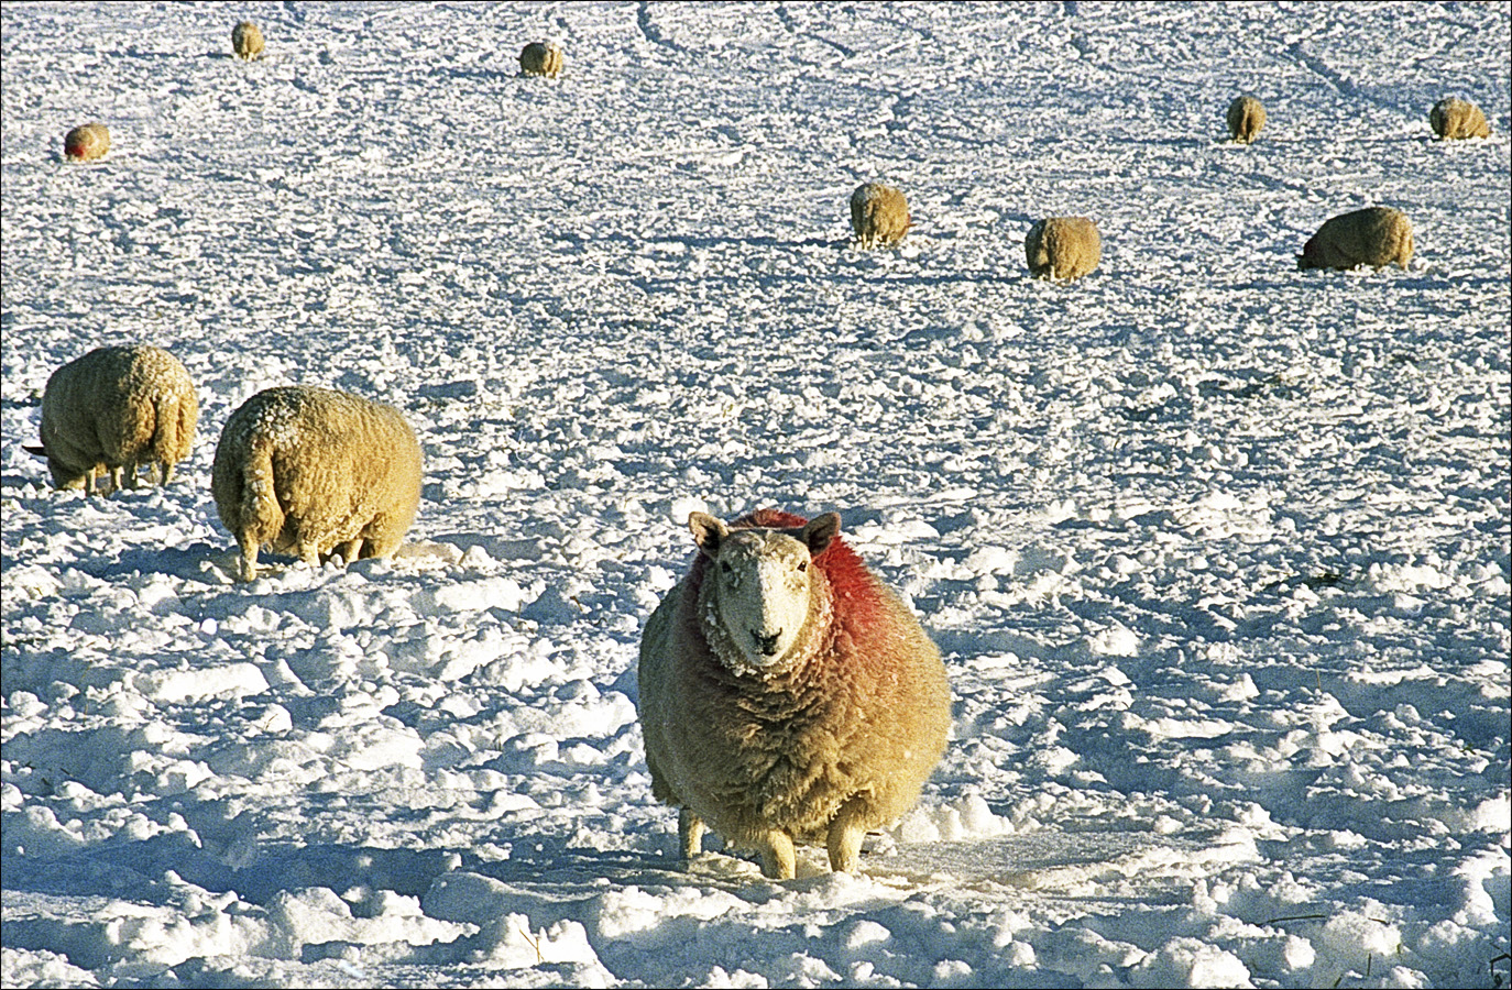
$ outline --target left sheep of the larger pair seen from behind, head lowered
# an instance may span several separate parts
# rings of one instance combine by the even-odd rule
[[[119,490],[136,488],[139,466],[156,466],[151,481],[166,485],[189,456],[200,401],[189,370],[162,348],[97,348],[64,364],[42,393],[42,444],[59,488],[95,491],[110,473]]]

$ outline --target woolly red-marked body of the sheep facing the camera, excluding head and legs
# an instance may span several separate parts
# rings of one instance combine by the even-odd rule
[[[804,523],[768,509],[730,527]],[[738,846],[759,848],[770,830],[824,843],[853,797],[863,828],[889,824],[945,750],[950,688],[918,620],[841,538],[812,565],[833,621],[791,671],[735,674],[717,659],[699,615],[702,553],[646,624],[638,704],[653,795]]]

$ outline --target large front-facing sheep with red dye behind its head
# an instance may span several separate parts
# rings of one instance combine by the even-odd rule
[[[945,751],[939,651],[835,512],[688,527],[699,555],[646,623],[637,700],[680,855],[708,827],[773,880],[794,878],[795,842],[854,872],[866,830],[913,807]]]

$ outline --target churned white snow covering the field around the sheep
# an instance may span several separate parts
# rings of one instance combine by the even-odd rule
[[[1509,59],[1504,3],[8,3],[0,981],[1506,985]],[[1408,271],[1294,271],[1371,204]],[[48,375],[129,342],[194,453],[53,491]],[[236,583],[215,443],[290,382],[407,413],[420,514]],[[857,875],[683,868],[650,794],[641,626],[762,505],[950,671]]]

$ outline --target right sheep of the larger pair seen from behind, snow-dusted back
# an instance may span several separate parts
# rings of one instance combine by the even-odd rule
[[[240,580],[257,576],[263,544],[310,565],[389,556],[420,505],[420,444],[392,405],[311,385],[266,388],[221,429],[210,491],[240,547]]]

